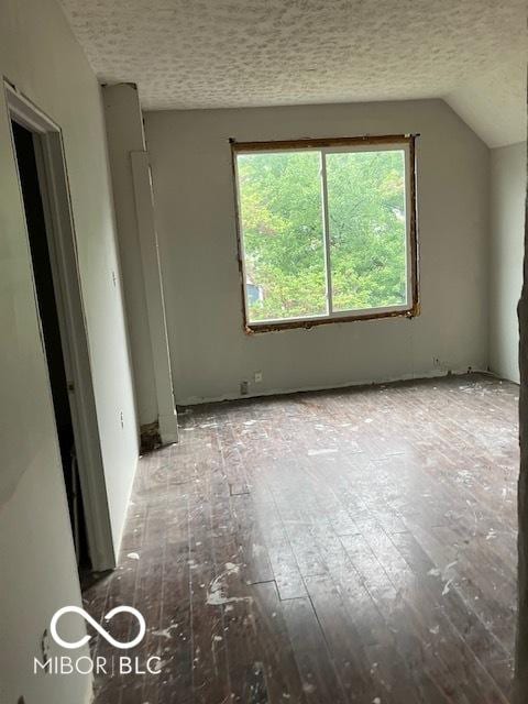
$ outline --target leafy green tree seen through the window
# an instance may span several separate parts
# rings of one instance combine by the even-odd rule
[[[402,151],[326,155],[334,310],[406,298],[405,166]],[[260,300],[251,319],[327,311],[321,153],[239,155],[245,266]]]

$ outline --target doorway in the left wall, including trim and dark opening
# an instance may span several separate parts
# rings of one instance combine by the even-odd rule
[[[61,128],[4,81],[79,573],[116,566]]]

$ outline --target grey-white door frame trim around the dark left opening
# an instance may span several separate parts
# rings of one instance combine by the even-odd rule
[[[68,396],[74,426],[88,550],[92,570],[97,572],[105,571],[113,569],[117,561],[97,420],[90,349],[82,301],[63,133],[56,122],[34,106],[25,96],[18,92],[7,80],[4,80],[4,95],[10,130],[11,120],[13,120],[33,133],[61,328],[61,341],[68,381]],[[11,146],[23,207],[19,164],[12,132]],[[29,248],[28,230],[26,238]],[[38,315],[35,289],[34,295]],[[41,341],[43,341],[41,321],[40,326]],[[43,351],[45,355],[44,343]]]

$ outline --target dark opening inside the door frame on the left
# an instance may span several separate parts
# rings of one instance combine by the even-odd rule
[[[33,276],[46,352],[72,532],[74,536],[77,564],[80,571],[85,571],[89,569],[90,561],[69,399],[73,385],[67,377],[64,358],[64,340],[61,334],[57,292],[50,253],[50,233],[46,228],[43,194],[35,152],[35,139],[37,138],[14,121],[12,121],[12,130],[28,223]]]

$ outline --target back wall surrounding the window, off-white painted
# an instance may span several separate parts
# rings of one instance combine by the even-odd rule
[[[486,145],[441,100],[145,114],[178,403],[487,366]],[[229,138],[419,132],[421,315],[248,336]]]

